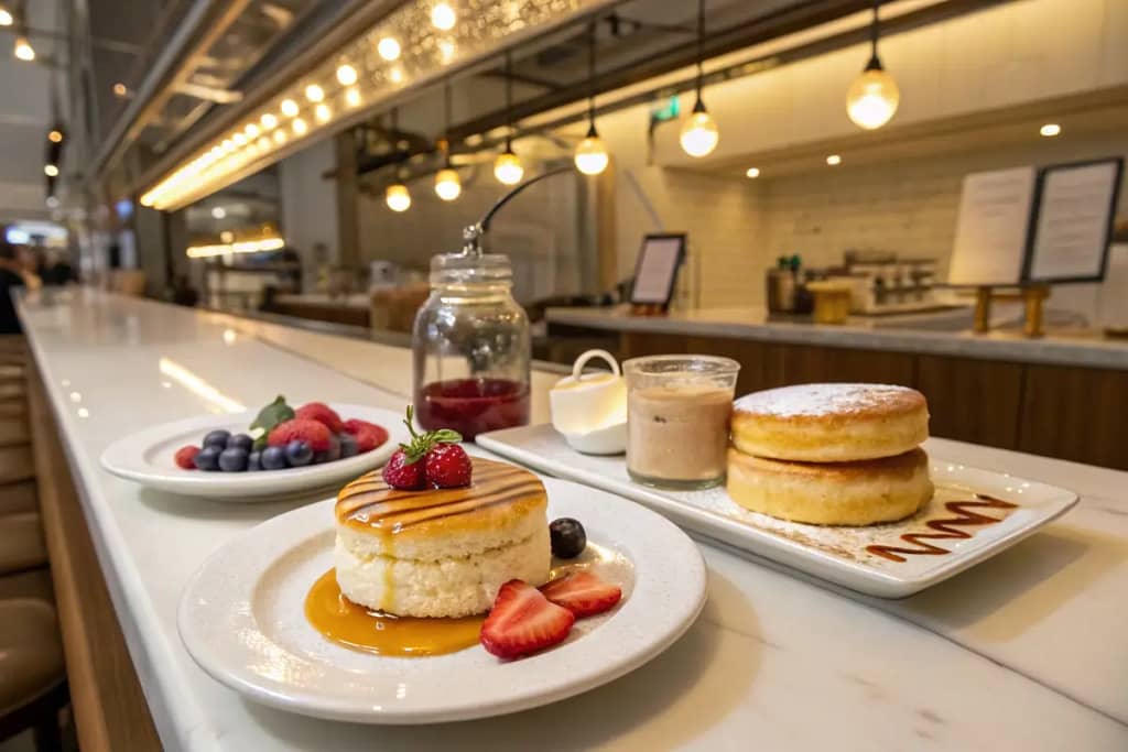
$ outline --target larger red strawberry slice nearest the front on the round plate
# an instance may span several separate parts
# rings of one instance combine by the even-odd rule
[[[482,625],[482,646],[499,658],[519,658],[564,642],[575,617],[532,585],[510,580]]]

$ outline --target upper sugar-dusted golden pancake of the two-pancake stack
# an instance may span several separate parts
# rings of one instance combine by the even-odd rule
[[[732,444],[756,457],[852,462],[896,457],[928,437],[928,405],[907,387],[809,383],[757,391],[733,405]]]

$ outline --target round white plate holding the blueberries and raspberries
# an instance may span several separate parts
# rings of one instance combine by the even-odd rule
[[[261,502],[341,485],[384,465],[399,442],[407,441],[404,416],[363,405],[329,402],[342,419],[360,418],[384,426],[389,439],[370,452],[324,465],[262,472],[203,472],[176,467],[173,455],[185,444],[199,445],[209,431],[246,433],[255,413],[202,415],[139,431],[115,441],[102,453],[102,467],[142,486],[190,496],[232,502]]]

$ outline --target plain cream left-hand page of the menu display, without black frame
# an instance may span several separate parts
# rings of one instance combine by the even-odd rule
[[[1017,167],[963,178],[949,284],[1022,281],[1038,169]]]

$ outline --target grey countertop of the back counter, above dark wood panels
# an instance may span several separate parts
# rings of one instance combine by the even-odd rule
[[[1003,306],[996,307],[1002,313]],[[1013,308],[1013,307],[1012,307]],[[1007,311],[1011,308],[1005,309]],[[1006,317],[1008,321],[1010,315]],[[706,308],[668,316],[631,316],[624,307],[549,308],[549,324],[611,331],[734,337],[828,347],[857,347],[901,353],[932,353],[1016,363],[1086,365],[1128,370],[1128,342],[1091,330],[1050,329],[1039,339],[1008,322],[985,335],[970,330],[971,309],[889,317],[853,316],[843,326],[769,318],[763,308]]]

